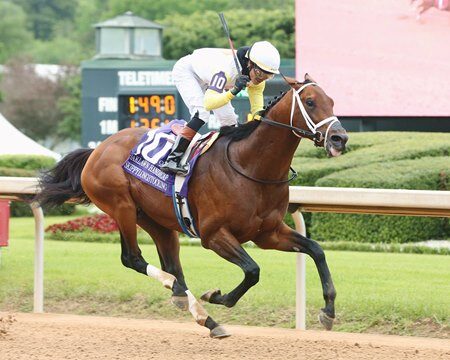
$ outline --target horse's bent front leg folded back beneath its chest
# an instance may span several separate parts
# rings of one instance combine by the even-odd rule
[[[201,299],[212,304],[234,306],[238,300],[259,281],[259,266],[242,248],[237,239],[227,230],[220,229],[213,236],[202,240],[205,247],[224,259],[239,266],[244,272],[244,280],[232,291],[222,294],[220,290],[210,290]]]

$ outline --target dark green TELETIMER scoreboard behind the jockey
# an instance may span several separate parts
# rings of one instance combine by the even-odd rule
[[[286,63],[286,60],[283,61]],[[294,62],[283,67],[294,73]],[[129,127],[158,128],[173,119],[189,120],[190,114],[172,79],[173,60],[94,59],[81,63],[82,145],[95,148],[117,131]],[[282,80],[271,80],[264,92],[268,99],[283,89]],[[232,100],[241,121],[250,105],[245,91]],[[211,113],[202,132],[216,130]]]

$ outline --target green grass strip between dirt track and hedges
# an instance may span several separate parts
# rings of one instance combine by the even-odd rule
[[[67,220],[67,217],[63,218]],[[46,225],[61,218],[47,218]],[[2,252],[0,310],[31,311],[33,220],[12,219],[10,247]],[[159,264],[153,245],[146,260]],[[261,267],[260,283],[232,309],[206,304],[222,323],[294,327],[295,255],[248,248]],[[450,257],[440,255],[327,251],[338,292],[335,330],[449,337]],[[192,321],[169,303],[170,292],[155,280],[122,266],[120,245],[45,242],[45,309]],[[200,247],[184,246],[181,261],[191,291],[230,291],[239,268]],[[307,260],[307,327],[320,328],[323,306],[317,271]]]

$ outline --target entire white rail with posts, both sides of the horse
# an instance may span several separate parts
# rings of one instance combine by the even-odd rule
[[[0,177],[0,197],[21,200],[36,194],[36,178]],[[450,217],[450,191],[386,190],[354,188],[317,188],[291,186],[289,202],[294,207],[295,227],[306,234],[300,211],[415,215]],[[34,312],[43,312],[44,304],[44,216],[42,209],[30,204],[35,217]],[[305,329],[305,255],[297,255],[296,327]]]

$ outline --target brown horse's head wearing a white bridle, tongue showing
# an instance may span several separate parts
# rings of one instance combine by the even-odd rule
[[[317,146],[324,147],[330,156],[339,156],[345,149],[348,136],[333,113],[333,99],[308,75],[305,81],[290,82],[292,96],[286,96],[290,103],[290,126],[299,137],[307,137]],[[287,110],[287,109],[286,109]]]

